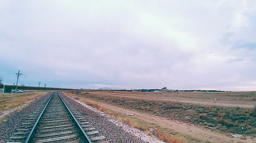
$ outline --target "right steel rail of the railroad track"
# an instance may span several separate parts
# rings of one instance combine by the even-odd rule
[[[72,116],[72,120],[75,123],[75,126],[77,128],[77,130],[80,133],[81,138],[83,139],[83,141],[85,141],[85,143],[92,143],[91,138],[88,136],[88,134],[83,130],[82,126],[79,124],[79,122],[76,120],[75,116],[73,115],[73,113],[70,111],[69,107],[67,106],[67,104],[63,101],[63,99],[60,97],[59,93],[57,92],[57,95],[59,96],[59,98],[61,99],[61,101],[63,102],[63,104],[65,105],[65,108],[69,111],[70,115]]]

